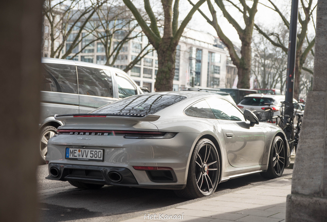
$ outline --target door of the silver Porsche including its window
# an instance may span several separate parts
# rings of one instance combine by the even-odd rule
[[[225,99],[207,99],[225,139],[229,163],[233,167],[250,167],[262,162],[264,134],[259,125],[250,127],[242,112]]]

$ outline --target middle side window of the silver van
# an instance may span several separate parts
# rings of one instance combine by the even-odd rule
[[[110,71],[77,66],[79,94],[113,97],[113,82]]]

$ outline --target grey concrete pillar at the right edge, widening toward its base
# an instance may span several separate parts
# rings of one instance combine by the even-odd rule
[[[313,91],[305,104],[286,221],[327,221],[327,1],[318,0]]]

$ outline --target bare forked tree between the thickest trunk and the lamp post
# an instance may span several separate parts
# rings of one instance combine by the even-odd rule
[[[194,5],[191,0],[188,0],[192,5]],[[255,24],[255,15],[257,13],[257,6],[259,0],[251,1],[251,6],[245,0],[214,0],[215,5],[222,11],[224,17],[227,21],[234,27],[237,31],[239,38],[241,40],[241,56],[238,55],[234,48],[232,41],[225,35],[224,31],[221,29],[217,19],[217,12],[214,9],[214,5],[211,0],[207,0],[209,11],[212,16],[212,20],[201,10],[198,10],[207,22],[216,30],[217,35],[221,41],[226,45],[230,58],[233,64],[238,68],[239,82],[238,88],[250,88],[250,75],[251,75],[251,42],[252,42],[252,32],[253,26]],[[239,11],[243,17],[243,23],[240,24],[235,20],[235,15],[231,15],[226,6],[230,5]],[[242,28],[242,26],[244,28]]]

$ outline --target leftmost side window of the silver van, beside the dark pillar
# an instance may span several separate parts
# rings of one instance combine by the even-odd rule
[[[74,65],[42,64],[41,91],[77,94],[77,76]]]

